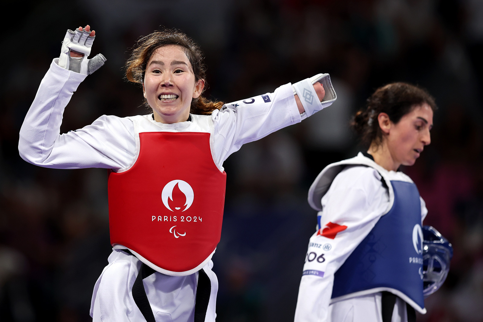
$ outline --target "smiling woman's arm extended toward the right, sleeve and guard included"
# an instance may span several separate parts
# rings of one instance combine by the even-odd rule
[[[273,93],[225,104],[220,111],[213,112],[218,163],[223,164],[241,145],[296,124],[335,99],[328,74],[318,74],[293,85],[282,85]]]

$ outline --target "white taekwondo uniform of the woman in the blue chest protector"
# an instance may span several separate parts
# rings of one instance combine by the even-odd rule
[[[400,171],[385,170],[362,153],[346,161],[355,164],[346,165],[328,183],[330,187],[321,199],[318,229],[330,228],[333,233],[323,236],[315,232],[310,238],[295,322],[382,322],[381,290],[331,299],[334,274],[392,207],[393,200],[381,173],[390,181],[412,180]],[[427,209],[421,197],[420,201],[422,223]],[[391,321],[407,321],[406,303],[399,297]]]

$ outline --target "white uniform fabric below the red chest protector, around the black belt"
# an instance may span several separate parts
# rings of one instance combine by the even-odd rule
[[[132,285],[138,276],[141,261],[121,250],[114,250],[108,261],[108,266],[94,286],[90,311],[93,321],[145,321],[132,298]],[[203,268],[211,280],[211,297],[205,321],[215,321],[216,317],[218,280],[212,267],[213,262],[210,261]],[[197,280],[198,272],[182,277],[155,272],[143,280],[156,322],[193,321]]]

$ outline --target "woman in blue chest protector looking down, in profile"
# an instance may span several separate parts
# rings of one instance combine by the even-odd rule
[[[367,153],[328,165],[309,190],[317,214],[296,322],[411,322],[426,313],[422,221],[412,166],[431,142],[434,98],[407,83],[378,88],[352,126]]]

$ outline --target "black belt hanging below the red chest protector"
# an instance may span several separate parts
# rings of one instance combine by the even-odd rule
[[[127,249],[123,249],[123,252],[127,252],[129,255],[134,254]],[[153,309],[149,305],[146,290],[144,290],[144,284],[142,280],[156,271],[144,263],[141,263],[138,277],[132,285],[132,297],[134,303],[138,306],[146,322],[156,322],[154,319]],[[206,311],[208,309],[208,302],[210,301],[211,294],[211,281],[208,275],[206,275],[203,269],[198,271],[198,286],[196,288],[196,301],[195,301],[195,321],[204,322],[206,317]]]

